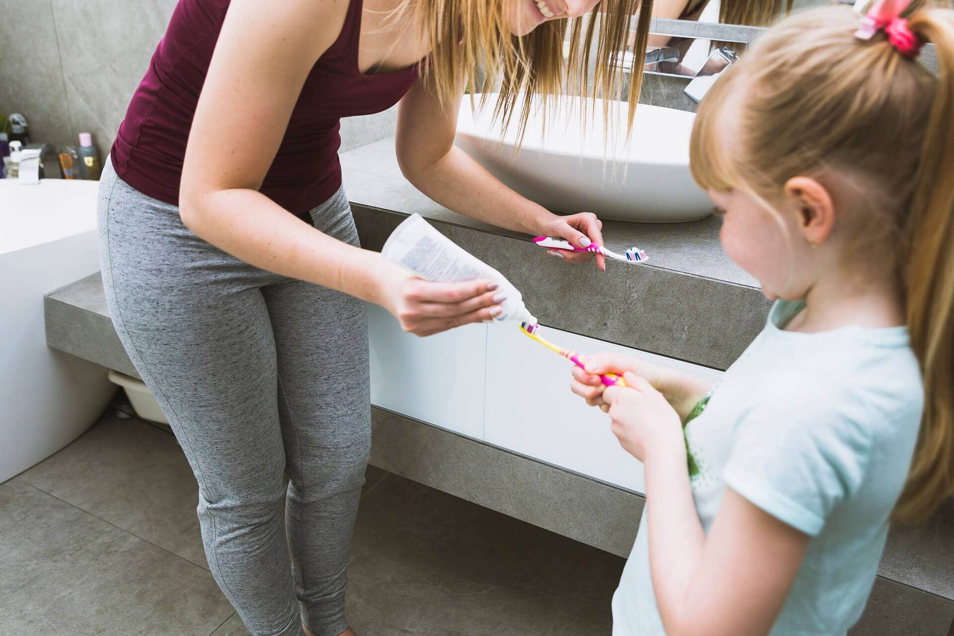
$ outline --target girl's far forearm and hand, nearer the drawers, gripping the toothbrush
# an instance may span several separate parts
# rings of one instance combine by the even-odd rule
[[[615,373],[622,376],[629,372],[647,380],[672,405],[680,421],[689,417],[695,404],[702,400],[712,387],[705,380],[698,380],[693,376],[623,354],[601,353],[587,356],[586,365],[586,371],[577,366],[573,367],[570,389],[587,400],[588,404],[598,406],[604,412],[609,411],[610,406],[603,399],[606,386],[599,379],[599,375]]]

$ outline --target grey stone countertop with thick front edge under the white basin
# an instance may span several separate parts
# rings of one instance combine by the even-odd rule
[[[771,303],[723,253],[715,216],[691,223],[605,221],[607,247],[638,246],[650,259],[610,261],[600,273],[548,256],[529,236],[430,200],[401,174],[393,138],[343,153],[341,161],[363,247],[380,250],[405,215],[419,213],[508,277],[544,325],[725,369],[765,324]]]

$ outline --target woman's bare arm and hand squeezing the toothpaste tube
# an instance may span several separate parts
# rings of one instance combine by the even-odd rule
[[[419,335],[488,319],[488,281],[411,277],[259,193],[305,78],[337,38],[346,10],[347,2],[335,0],[285,0],[267,11],[256,0],[233,0],[189,134],[182,221],[253,265],[381,304]]]

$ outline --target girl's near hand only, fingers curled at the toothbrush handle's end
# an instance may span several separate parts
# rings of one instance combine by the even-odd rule
[[[609,406],[612,434],[630,455],[646,461],[651,451],[660,444],[670,444],[669,450],[681,448],[682,419],[666,398],[653,388],[649,380],[632,372],[624,374],[628,386],[608,386],[603,400]]]

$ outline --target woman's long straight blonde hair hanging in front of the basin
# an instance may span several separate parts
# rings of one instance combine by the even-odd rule
[[[441,99],[452,104],[461,91],[499,92],[494,115],[508,127],[518,114],[519,131],[526,128],[530,100],[541,96],[544,112],[555,97],[570,93],[620,99],[624,85],[623,52],[630,21],[638,13],[635,51],[645,51],[653,0],[600,0],[588,16],[550,20],[528,35],[510,34],[510,9],[529,0],[402,0],[395,15],[412,16],[414,35],[431,48],[423,63],[425,81]],[[597,20],[599,27],[597,28]],[[569,56],[564,41],[570,34]],[[633,64],[628,97],[627,134],[642,84],[643,65]],[[609,117],[605,104],[604,117]]]

